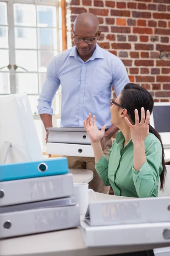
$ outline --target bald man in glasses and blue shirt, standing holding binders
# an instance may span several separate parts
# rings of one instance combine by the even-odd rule
[[[118,95],[129,79],[122,61],[96,44],[100,34],[99,20],[95,15],[82,13],[76,18],[73,31],[75,46],[55,56],[48,65],[46,80],[38,99],[38,113],[45,129],[52,127],[51,102],[61,84],[61,126],[83,127],[83,120],[88,114],[95,115],[99,129],[107,124],[101,145],[108,158],[111,137],[118,131],[110,121],[112,86]],[[69,168],[90,169],[94,172],[89,188],[96,192],[109,192],[109,186],[103,184],[95,170],[94,157],[67,159]]]

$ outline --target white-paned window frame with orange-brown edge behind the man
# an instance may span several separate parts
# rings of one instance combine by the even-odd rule
[[[15,50],[18,50],[18,48],[15,48],[15,38],[14,38],[14,29],[15,27],[23,27],[23,26],[14,26],[14,4],[15,3],[21,3],[21,4],[34,4],[42,5],[42,6],[55,6],[57,11],[57,54],[62,52],[63,50],[67,49],[67,36],[66,36],[66,8],[65,8],[65,0],[0,0],[0,2],[5,2],[7,4],[7,25],[2,25],[4,27],[8,28],[8,51],[9,51],[9,60],[8,63],[12,65],[11,70],[4,71],[9,73],[10,76],[10,92],[9,94],[17,93],[17,82],[16,82],[16,75],[19,72],[16,72],[14,70],[14,65],[16,64],[16,58],[15,58]],[[59,8],[61,12],[61,27],[59,27]],[[37,16],[36,16],[37,17]],[[29,28],[29,26],[28,26]],[[39,28],[39,27],[38,27]],[[62,31],[62,40],[60,39],[59,35],[59,29]],[[36,31],[37,31],[37,24],[36,24]],[[61,50],[61,44],[62,41],[62,50]],[[38,44],[38,43],[37,43]],[[4,48],[0,48],[4,49]],[[27,49],[26,49],[27,50]],[[38,49],[35,49],[37,52],[37,60],[38,60]],[[38,67],[38,63],[37,63]],[[24,73],[24,71],[22,72]],[[27,73],[27,72],[25,72]],[[38,79],[39,79],[39,72],[38,70],[35,72],[29,72],[29,73],[37,73]],[[39,84],[39,83],[38,83]],[[61,90],[57,91],[57,94],[59,95],[59,114],[54,113],[52,116],[53,123],[55,124],[57,119],[61,119],[61,100],[62,100],[62,93]],[[0,96],[8,95],[7,93],[0,93]],[[38,93],[30,94],[28,95],[40,95],[40,86],[38,85]],[[53,106],[56,106],[55,97],[54,101],[52,103]],[[34,120],[40,120],[40,116],[38,113],[33,114]],[[45,129],[44,129],[44,135],[45,135]]]

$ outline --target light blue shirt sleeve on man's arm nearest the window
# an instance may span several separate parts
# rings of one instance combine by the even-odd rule
[[[51,103],[60,85],[57,73],[56,59],[54,57],[48,65],[46,79],[38,99],[37,108],[39,114],[47,113],[51,116],[53,114]]]

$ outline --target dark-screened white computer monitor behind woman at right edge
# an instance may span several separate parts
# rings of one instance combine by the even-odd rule
[[[155,102],[150,125],[161,135],[164,148],[170,148],[170,102]]]

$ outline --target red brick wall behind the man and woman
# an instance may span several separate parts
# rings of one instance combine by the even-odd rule
[[[118,56],[130,81],[155,101],[170,101],[170,0],[68,0],[66,9],[68,35],[77,15],[94,13],[99,46]]]

